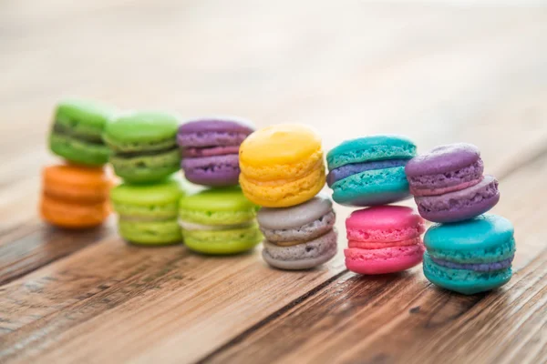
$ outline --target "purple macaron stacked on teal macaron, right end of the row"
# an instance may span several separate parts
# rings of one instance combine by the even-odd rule
[[[507,219],[485,214],[500,200],[498,181],[484,176],[477,147],[451,144],[413,158],[405,167],[419,214],[438,224],[424,242],[424,274],[463,294],[498,288],[511,279],[515,252]]]

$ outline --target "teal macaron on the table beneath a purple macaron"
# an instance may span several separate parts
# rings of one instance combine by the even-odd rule
[[[464,295],[499,288],[512,276],[514,227],[485,214],[429,227],[424,237],[424,274],[431,283]]]

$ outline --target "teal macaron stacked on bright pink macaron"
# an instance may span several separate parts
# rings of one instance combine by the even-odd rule
[[[405,166],[415,156],[414,143],[394,135],[348,140],[327,154],[326,180],[333,199],[367,207],[346,219],[349,270],[395,273],[422,261],[424,220],[412,208],[387,205],[410,197]]]

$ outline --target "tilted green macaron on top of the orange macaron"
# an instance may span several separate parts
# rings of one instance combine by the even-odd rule
[[[102,133],[113,109],[98,103],[66,99],[56,108],[49,135],[49,148],[59,157],[84,166],[108,162],[108,147]]]

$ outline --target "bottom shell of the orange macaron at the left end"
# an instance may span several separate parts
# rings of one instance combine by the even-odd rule
[[[40,215],[49,224],[66,228],[97,227],[110,213],[108,202],[77,204],[42,196]]]

